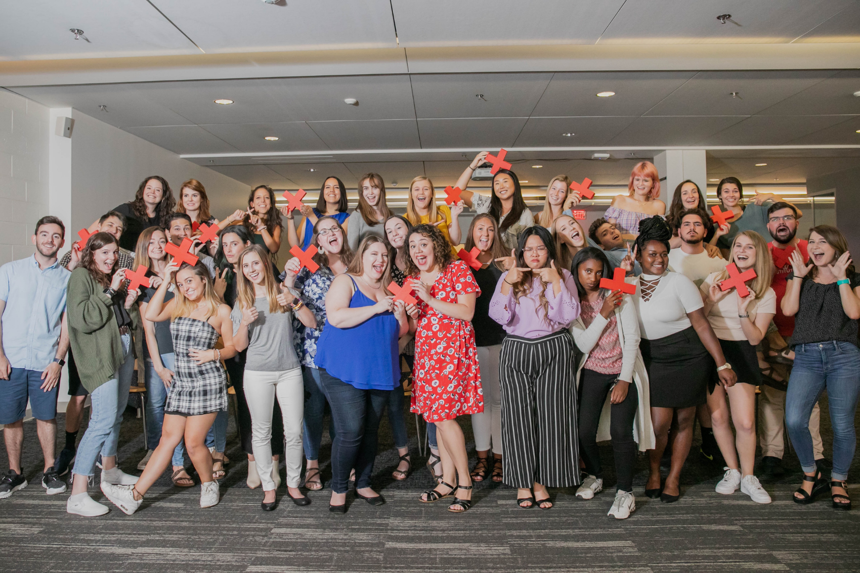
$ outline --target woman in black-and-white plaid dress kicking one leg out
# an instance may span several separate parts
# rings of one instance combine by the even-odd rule
[[[236,355],[230,307],[218,299],[209,270],[202,262],[171,262],[164,271],[168,277],[175,274],[177,295],[164,304],[169,280],[163,280],[146,308],[147,320],[171,320],[175,352],[162,439],[137,484],[101,484],[107,499],[129,515],[137,511],[146,491],[170,465],[173,450],[183,437],[188,456],[200,475],[200,507],[218,503],[218,482],[212,478],[212,454],[205,441],[218,411],[227,410],[227,376],[221,360]],[[224,348],[214,348],[218,337],[223,338]]]

